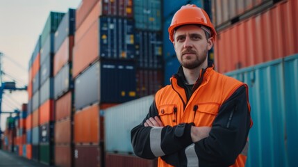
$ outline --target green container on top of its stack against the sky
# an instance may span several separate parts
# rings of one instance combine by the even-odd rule
[[[49,34],[56,32],[64,15],[65,15],[65,13],[57,13],[57,12],[49,13],[47,22],[46,22],[46,24],[44,24],[44,29],[42,30],[42,34],[40,36],[41,47],[44,47],[44,43],[46,42]],[[42,61],[41,61],[41,63],[42,63]]]

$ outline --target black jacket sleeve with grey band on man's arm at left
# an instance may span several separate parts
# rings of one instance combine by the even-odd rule
[[[149,113],[142,123],[131,129],[131,143],[133,145],[133,151],[138,157],[154,159],[165,154],[179,152],[179,150],[183,150],[192,143],[190,136],[192,124],[177,125],[174,127],[165,126],[160,128],[160,143],[156,143],[156,140],[150,140],[154,127],[144,127],[144,122],[154,116],[158,116],[155,101],[151,104]],[[160,154],[156,153],[154,145],[158,145],[161,149]]]

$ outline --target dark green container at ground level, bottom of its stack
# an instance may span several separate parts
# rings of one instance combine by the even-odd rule
[[[53,165],[54,164],[54,147],[49,143],[39,145],[40,163]]]

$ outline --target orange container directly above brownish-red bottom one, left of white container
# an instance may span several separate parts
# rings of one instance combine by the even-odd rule
[[[99,106],[94,104],[74,114],[74,143],[99,142]]]

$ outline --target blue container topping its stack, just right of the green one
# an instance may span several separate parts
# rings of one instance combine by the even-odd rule
[[[58,51],[63,41],[69,35],[74,35],[76,26],[76,10],[69,8],[67,13],[63,16],[54,37],[54,52]]]

